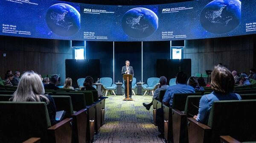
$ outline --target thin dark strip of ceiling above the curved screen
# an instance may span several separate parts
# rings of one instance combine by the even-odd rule
[[[192,0],[62,0],[75,3],[99,5],[156,5],[165,3],[179,3]]]

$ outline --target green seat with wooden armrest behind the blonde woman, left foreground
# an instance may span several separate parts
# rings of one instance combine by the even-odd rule
[[[45,102],[0,101],[0,141],[21,143],[40,137],[41,143],[71,143],[72,118],[51,126]]]

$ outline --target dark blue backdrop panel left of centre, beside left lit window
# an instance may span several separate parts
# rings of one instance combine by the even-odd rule
[[[100,77],[93,77],[94,82],[101,77],[113,78],[113,42],[86,41],[85,45],[86,59],[89,59],[89,61],[90,59],[99,59],[100,61]],[[89,70],[89,73],[91,73],[94,69]]]

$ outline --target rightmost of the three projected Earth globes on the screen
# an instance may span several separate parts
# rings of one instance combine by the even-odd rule
[[[213,0],[201,12],[202,27],[213,34],[224,34],[241,22],[241,1]]]

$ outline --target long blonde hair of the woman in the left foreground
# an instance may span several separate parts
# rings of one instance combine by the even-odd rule
[[[17,90],[13,94],[13,101],[36,101],[41,102],[41,99],[45,99],[49,104],[49,99],[44,95],[44,85],[40,76],[33,71],[25,72],[20,78]]]

